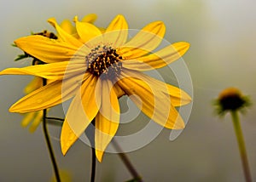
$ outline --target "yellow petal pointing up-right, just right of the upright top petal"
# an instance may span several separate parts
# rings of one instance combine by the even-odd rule
[[[155,21],[145,26],[128,43],[119,48],[119,54],[125,60],[131,60],[148,54],[157,48],[166,32],[166,26],[161,21]]]

